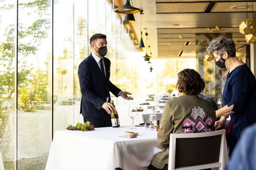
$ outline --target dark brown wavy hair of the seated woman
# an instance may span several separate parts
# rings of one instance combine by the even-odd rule
[[[184,69],[178,73],[176,88],[186,95],[199,95],[205,87],[204,80],[193,69]]]

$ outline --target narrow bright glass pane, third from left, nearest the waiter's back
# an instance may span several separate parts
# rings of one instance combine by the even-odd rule
[[[74,123],[74,2],[54,0],[53,133]]]

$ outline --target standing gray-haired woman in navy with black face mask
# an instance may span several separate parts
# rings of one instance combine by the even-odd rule
[[[215,129],[222,127],[226,118],[231,117],[230,148],[231,155],[241,131],[256,122],[256,80],[250,68],[236,58],[236,48],[233,40],[220,36],[214,38],[207,52],[214,55],[216,65],[228,68],[223,89],[225,107],[216,111]]]

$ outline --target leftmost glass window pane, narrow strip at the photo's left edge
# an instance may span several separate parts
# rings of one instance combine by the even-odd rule
[[[0,0],[0,169],[14,169],[15,0]]]

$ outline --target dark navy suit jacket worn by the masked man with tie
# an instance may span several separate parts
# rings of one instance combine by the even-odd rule
[[[79,84],[82,94],[80,114],[85,117],[102,117],[107,112],[101,107],[106,102],[107,97],[110,97],[110,91],[116,97],[118,97],[121,91],[109,80],[110,60],[106,57],[103,57],[103,60],[106,68],[106,78],[101,73],[100,67],[91,54],[78,67]]]

